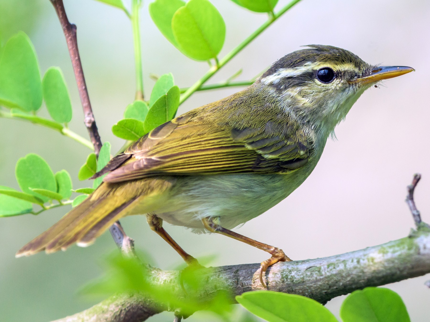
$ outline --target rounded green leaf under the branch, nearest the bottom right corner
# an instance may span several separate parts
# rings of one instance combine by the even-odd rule
[[[341,306],[344,322],[410,322],[400,296],[382,287],[366,287],[352,292]]]

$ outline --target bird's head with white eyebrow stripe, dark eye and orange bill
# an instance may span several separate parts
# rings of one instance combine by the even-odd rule
[[[414,70],[367,64],[352,52],[333,46],[307,47],[276,61],[260,82],[279,97],[285,109],[327,133],[367,88]]]

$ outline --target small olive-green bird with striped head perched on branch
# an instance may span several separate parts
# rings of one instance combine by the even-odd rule
[[[255,218],[309,176],[327,138],[371,85],[409,73],[375,66],[333,46],[310,45],[276,61],[248,88],[155,128],[94,177],[103,183],[16,256],[88,246],[118,219],[147,214],[151,229],[187,263],[162,228],[172,225],[240,240],[289,261],[282,249],[230,229]]]

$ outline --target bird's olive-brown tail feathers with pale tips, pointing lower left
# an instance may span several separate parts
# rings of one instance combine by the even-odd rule
[[[65,250],[73,243],[88,246],[118,219],[135,208],[144,197],[142,189],[120,184],[102,183],[81,204],[74,207],[55,225],[22,247],[16,257]],[[146,191],[148,192],[148,191]]]

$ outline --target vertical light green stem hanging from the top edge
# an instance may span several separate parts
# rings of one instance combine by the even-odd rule
[[[140,44],[139,30],[139,9],[141,0],[132,0],[132,30],[133,30],[133,45],[135,54],[135,69],[136,69],[136,100],[144,100],[143,94],[143,74],[142,74],[142,50]]]

